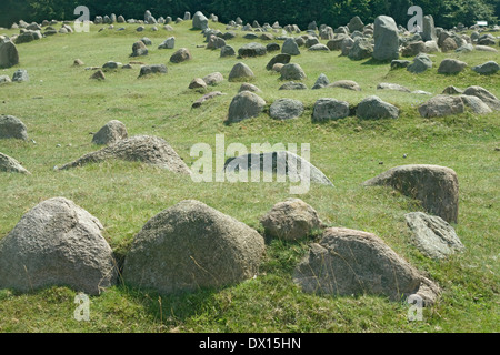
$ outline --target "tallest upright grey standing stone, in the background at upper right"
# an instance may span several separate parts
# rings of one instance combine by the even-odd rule
[[[399,58],[398,27],[392,18],[388,16],[376,18],[373,39],[373,59],[389,61]]]

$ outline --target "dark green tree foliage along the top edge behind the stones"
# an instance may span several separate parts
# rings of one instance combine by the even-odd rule
[[[223,22],[240,17],[246,22],[281,24],[297,23],[306,28],[311,21],[331,27],[344,26],[353,16],[371,22],[379,14],[388,14],[402,26],[410,17],[408,9],[420,6],[424,14],[432,14],[436,23],[451,28],[461,22],[471,26],[478,20],[498,23],[500,2],[497,0],[2,0],[0,26],[12,22],[41,22],[44,19],[73,20],[77,6],[87,6],[91,18],[97,14],[123,14],[141,19],[147,9],[156,17],[182,17],[184,11],[216,13]]]

